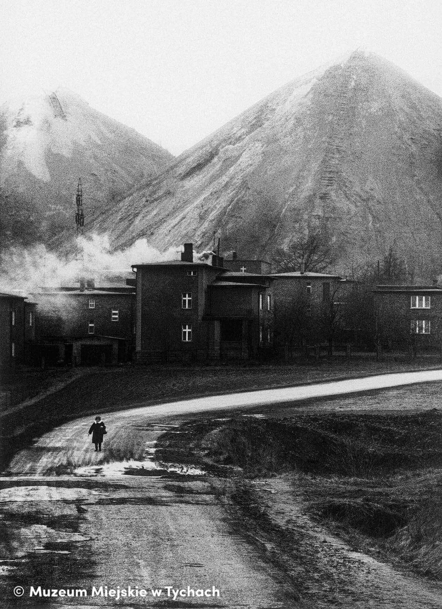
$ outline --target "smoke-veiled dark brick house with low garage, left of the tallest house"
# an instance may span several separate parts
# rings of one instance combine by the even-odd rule
[[[44,290],[38,294],[40,351],[47,364],[130,361],[135,335],[135,291],[125,283]]]

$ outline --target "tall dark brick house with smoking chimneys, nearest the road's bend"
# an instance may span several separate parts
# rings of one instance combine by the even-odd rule
[[[181,260],[134,264],[136,352],[181,359],[254,357],[272,342],[271,278],[229,272],[224,259],[193,260],[185,244]]]

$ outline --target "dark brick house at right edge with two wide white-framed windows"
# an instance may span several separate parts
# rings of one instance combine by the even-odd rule
[[[385,348],[442,347],[442,289],[438,286],[376,286],[376,339]]]

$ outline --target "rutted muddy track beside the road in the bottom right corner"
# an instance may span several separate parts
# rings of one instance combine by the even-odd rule
[[[350,608],[437,608],[442,586],[356,552],[311,518],[297,474],[245,483],[243,513],[253,501],[249,535],[297,583],[308,606]],[[245,491],[245,492],[244,492]],[[241,493],[243,496],[241,496]],[[238,504],[238,498],[236,503]]]

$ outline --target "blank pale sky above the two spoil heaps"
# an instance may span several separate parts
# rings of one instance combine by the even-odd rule
[[[360,46],[442,96],[439,0],[2,0],[0,99],[57,86],[178,155]]]

